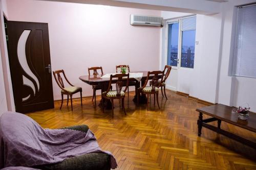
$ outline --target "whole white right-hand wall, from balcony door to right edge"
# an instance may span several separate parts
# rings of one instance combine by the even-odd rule
[[[177,90],[212,103],[240,106],[248,103],[256,111],[256,79],[230,77],[237,5],[255,1],[230,0],[222,3],[222,12],[215,15],[197,15],[195,68],[180,69]],[[187,14],[162,12],[164,18],[176,18]],[[162,39],[162,43],[164,40]],[[162,63],[166,64],[163,46]],[[171,79],[172,77],[170,77]],[[168,85],[168,84],[167,84]]]

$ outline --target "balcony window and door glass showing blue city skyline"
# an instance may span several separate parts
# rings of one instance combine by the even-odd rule
[[[179,61],[181,61],[181,67],[194,68],[195,42],[196,16],[169,22],[167,64],[179,66]]]

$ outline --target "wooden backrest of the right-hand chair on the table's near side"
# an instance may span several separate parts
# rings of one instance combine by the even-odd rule
[[[161,79],[161,82],[163,81],[163,75],[164,75],[164,71],[148,71],[145,84],[141,89],[146,87],[148,80],[150,79],[151,76],[153,76],[151,87],[152,87],[152,91],[155,91],[156,87],[160,86],[160,84],[158,83],[158,80]]]

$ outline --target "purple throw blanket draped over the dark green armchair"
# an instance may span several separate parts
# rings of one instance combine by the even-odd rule
[[[117,163],[99,148],[94,134],[69,129],[43,129],[32,118],[6,112],[0,117],[0,168],[52,164],[88,153],[107,153],[111,168]]]

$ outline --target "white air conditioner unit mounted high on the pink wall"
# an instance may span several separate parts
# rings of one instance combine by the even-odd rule
[[[131,14],[131,25],[162,27],[162,17]]]

